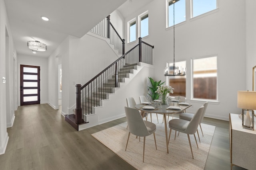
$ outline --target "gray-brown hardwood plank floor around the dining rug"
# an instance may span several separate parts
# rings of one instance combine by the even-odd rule
[[[162,120],[160,116],[158,118]],[[14,125],[7,129],[10,138],[5,154],[0,155],[0,169],[134,169],[91,136],[125,122],[125,117],[82,131],[76,131],[64,119],[61,109],[54,110],[48,104],[18,107]],[[228,121],[204,118],[203,123],[216,126],[205,169],[230,169]],[[233,166],[233,170],[242,169]]]

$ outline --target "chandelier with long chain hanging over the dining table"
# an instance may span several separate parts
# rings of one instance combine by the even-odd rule
[[[178,1],[178,0],[176,0]],[[175,22],[174,22],[174,3],[175,0],[172,1],[173,4],[173,73],[169,74],[169,65],[164,68],[164,76],[185,76],[186,75],[186,67],[184,68],[175,68]]]

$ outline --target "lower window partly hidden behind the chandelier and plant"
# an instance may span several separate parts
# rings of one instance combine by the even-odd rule
[[[169,74],[173,74],[173,63],[168,63],[168,65]],[[177,72],[180,68],[186,68],[186,61],[175,62],[174,71]],[[174,88],[173,94],[169,94],[170,96],[186,97],[186,76],[167,76],[167,81],[169,82],[169,86]]]

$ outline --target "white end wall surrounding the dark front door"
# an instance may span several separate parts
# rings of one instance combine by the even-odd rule
[[[43,52],[42,52],[43,53]],[[40,104],[48,103],[48,59],[44,57],[17,55],[18,87],[20,87],[20,65],[40,66]],[[20,90],[18,90],[18,106],[20,106]]]

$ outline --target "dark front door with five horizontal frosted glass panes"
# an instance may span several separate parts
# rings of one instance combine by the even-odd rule
[[[20,65],[20,106],[40,104],[40,66]]]

